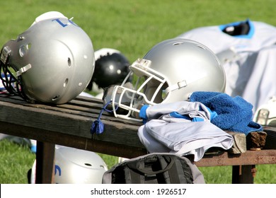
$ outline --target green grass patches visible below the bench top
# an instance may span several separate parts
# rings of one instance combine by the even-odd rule
[[[117,157],[99,153],[111,168],[117,163]],[[19,146],[10,141],[0,141],[0,183],[28,183],[27,172],[33,166],[35,154],[27,146]],[[254,179],[256,184],[275,184],[275,165],[257,165]],[[231,184],[231,166],[199,167],[207,184]]]

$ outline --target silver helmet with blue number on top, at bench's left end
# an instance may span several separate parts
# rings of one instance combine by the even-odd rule
[[[84,91],[94,65],[88,35],[58,12],[42,14],[1,50],[6,90],[29,101],[67,103]]]

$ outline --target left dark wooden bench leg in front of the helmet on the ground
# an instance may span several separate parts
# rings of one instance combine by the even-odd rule
[[[54,144],[37,141],[36,184],[51,184],[54,170]]]

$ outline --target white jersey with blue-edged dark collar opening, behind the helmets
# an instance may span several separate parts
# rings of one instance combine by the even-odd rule
[[[178,37],[209,47],[224,65],[226,93],[240,95],[253,112],[276,95],[276,28],[258,21],[195,28]]]

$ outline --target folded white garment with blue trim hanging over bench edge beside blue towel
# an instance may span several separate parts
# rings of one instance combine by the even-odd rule
[[[208,148],[233,146],[233,137],[209,122],[210,112],[201,103],[154,105],[146,108],[146,116],[154,119],[139,127],[138,136],[150,153],[193,154],[199,161]]]

